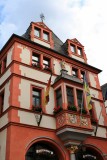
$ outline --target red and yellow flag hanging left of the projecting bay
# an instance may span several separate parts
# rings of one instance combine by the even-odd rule
[[[47,87],[46,87],[46,91],[45,91],[45,99],[44,99],[44,104],[48,104],[49,102],[49,91],[50,91],[50,87],[51,87],[51,78],[52,78],[52,73],[51,73],[51,76],[48,80],[48,84],[47,84]]]

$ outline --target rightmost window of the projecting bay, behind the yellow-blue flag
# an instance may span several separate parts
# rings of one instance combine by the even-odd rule
[[[80,108],[81,106],[84,108],[83,91],[81,90],[77,90],[77,102]]]

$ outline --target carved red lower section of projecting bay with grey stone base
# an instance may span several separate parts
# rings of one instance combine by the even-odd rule
[[[84,141],[93,134],[88,114],[73,111],[61,111],[56,116],[56,135],[64,142]]]

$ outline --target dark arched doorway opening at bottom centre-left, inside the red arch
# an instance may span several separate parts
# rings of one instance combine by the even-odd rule
[[[55,149],[46,142],[33,144],[26,153],[25,160],[59,160]]]

